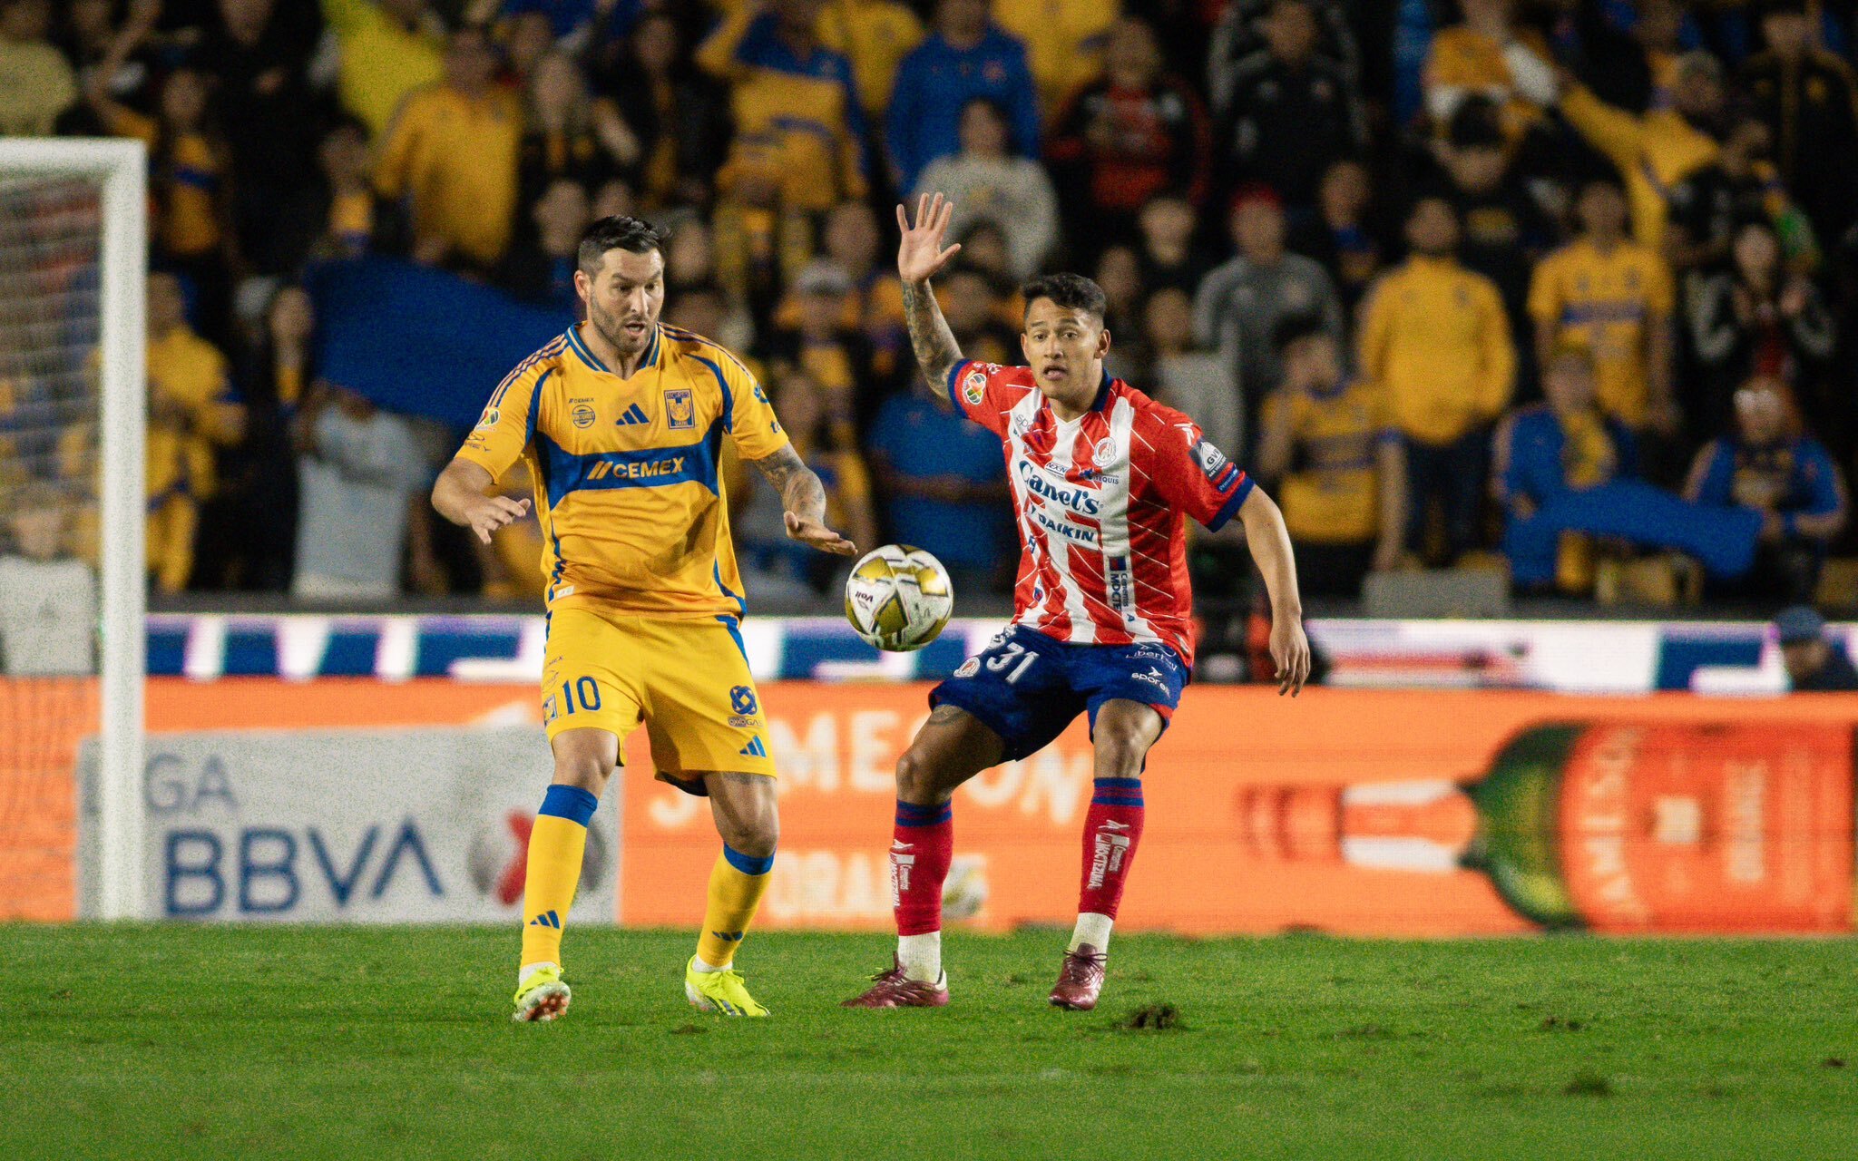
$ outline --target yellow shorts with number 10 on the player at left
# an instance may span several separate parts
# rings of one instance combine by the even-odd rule
[[[713,771],[775,775],[767,719],[734,619],[556,609],[543,656],[548,739],[591,726],[624,741],[641,721],[665,782]]]

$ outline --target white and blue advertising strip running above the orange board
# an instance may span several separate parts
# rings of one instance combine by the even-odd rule
[[[156,613],[152,676],[375,676],[535,682],[544,622],[511,613]],[[842,617],[751,617],[749,663],[773,680],[942,678],[1000,632],[957,619],[927,648],[877,654]],[[1854,626],[1834,626],[1852,648]],[[1750,620],[1364,620],[1315,619],[1328,684],[1351,689],[1548,689],[1559,693],[1780,693],[1773,630]]]

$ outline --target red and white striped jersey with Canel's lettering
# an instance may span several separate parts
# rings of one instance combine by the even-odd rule
[[[962,360],[948,398],[1005,448],[1026,544],[1013,620],[1078,645],[1159,641],[1193,665],[1187,518],[1217,531],[1250,476],[1198,424],[1107,373],[1068,424],[1024,366]]]

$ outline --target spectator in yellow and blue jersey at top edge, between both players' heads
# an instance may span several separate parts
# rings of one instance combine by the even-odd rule
[[[851,61],[814,32],[821,6],[743,4],[697,48],[697,63],[734,85],[736,141],[717,184],[739,186],[749,204],[818,212],[864,197],[864,108]]]

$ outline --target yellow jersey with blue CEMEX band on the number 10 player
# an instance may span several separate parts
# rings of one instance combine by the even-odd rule
[[[660,325],[630,377],[608,370],[582,323],[517,364],[459,459],[535,479],[548,609],[739,617],[741,574],[717,464],[725,437],[764,459],[788,435],[728,351]]]

